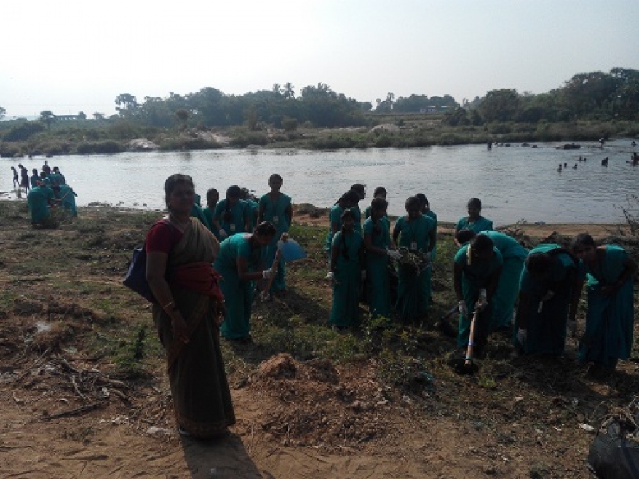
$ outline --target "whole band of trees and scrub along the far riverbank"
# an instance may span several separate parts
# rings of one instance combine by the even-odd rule
[[[371,102],[320,82],[241,96],[212,87],[185,95],[115,99],[117,114],[40,112],[0,121],[0,155],[120,153],[215,148],[411,148],[466,143],[597,141],[639,135],[639,71],[574,75],[543,94],[513,89],[461,103],[453,97],[389,92]],[[0,119],[6,110],[0,106]]]

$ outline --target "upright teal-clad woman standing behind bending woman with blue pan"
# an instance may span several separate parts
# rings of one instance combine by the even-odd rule
[[[264,194],[260,198],[259,219],[268,221],[275,226],[275,236],[266,248],[266,265],[271,266],[275,260],[275,254],[278,252],[278,241],[282,233],[288,233],[290,224],[293,221],[293,204],[291,198],[280,192],[283,179],[278,174],[273,174],[268,178],[268,186],[271,191]],[[286,267],[283,258],[278,263],[277,273],[271,285],[271,291],[268,293],[283,292],[286,289]]]

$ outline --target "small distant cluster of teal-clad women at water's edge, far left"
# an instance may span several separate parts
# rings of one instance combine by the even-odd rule
[[[28,177],[23,165],[18,165],[18,167],[22,171],[21,186],[25,188],[27,193],[27,204],[32,224],[48,225],[52,220],[51,208],[58,205],[70,216],[77,216],[75,206],[77,194],[72,187],[67,185],[65,175],[62,175],[58,167],[52,169],[45,160],[40,172],[33,168],[31,177]],[[25,177],[28,177],[28,183],[26,183]]]

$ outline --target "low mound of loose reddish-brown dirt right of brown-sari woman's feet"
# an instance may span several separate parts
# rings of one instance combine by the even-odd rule
[[[260,422],[283,446],[354,450],[388,430],[389,402],[368,365],[344,377],[329,360],[302,363],[280,354],[260,365],[249,390],[273,402]]]

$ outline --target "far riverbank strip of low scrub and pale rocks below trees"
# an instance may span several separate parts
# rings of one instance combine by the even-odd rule
[[[261,124],[249,129],[229,128],[151,128],[126,119],[76,121],[44,130],[37,122],[7,122],[1,125],[0,156],[22,158],[27,155],[114,154],[126,151],[190,151],[220,148],[293,148],[300,150],[339,150],[351,148],[419,148],[486,144],[530,145],[565,142],[599,145],[599,138],[637,138],[639,123],[633,121],[574,121],[569,123],[488,123],[483,126],[449,126],[438,115],[371,115],[365,126],[286,130]],[[25,126],[26,125],[26,126]],[[11,128],[20,134],[11,133]],[[8,141],[8,138],[16,137]],[[18,139],[19,138],[19,139]]]

